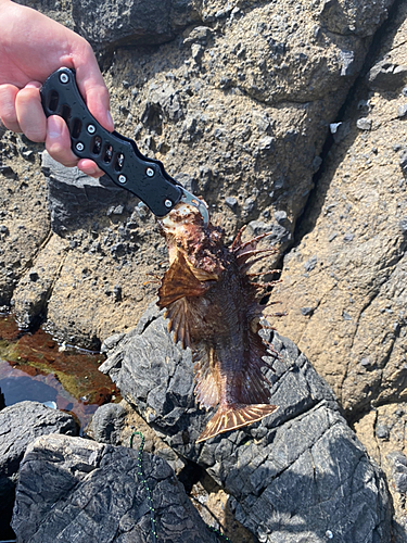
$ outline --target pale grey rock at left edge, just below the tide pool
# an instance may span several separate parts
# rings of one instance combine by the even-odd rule
[[[0,412],[0,538],[8,535],[23,455],[29,443],[48,433],[76,435],[78,427],[67,413],[38,402],[21,402]]]

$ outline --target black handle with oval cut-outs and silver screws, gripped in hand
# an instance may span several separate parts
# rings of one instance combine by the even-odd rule
[[[103,128],[90,114],[75,80],[75,71],[62,67],[40,90],[43,111],[67,124],[72,150],[80,159],[94,161],[119,187],[142,200],[157,217],[164,217],[181,200],[181,186],[160,161],[140,153],[136,142]]]

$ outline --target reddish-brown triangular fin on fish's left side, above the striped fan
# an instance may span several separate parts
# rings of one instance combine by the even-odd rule
[[[176,258],[164,274],[158,289],[158,307],[168,307],[180,298],[201,296],[207,289],[191,272],[186,257],[178,251]]]

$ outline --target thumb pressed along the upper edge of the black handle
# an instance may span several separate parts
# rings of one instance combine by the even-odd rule
[[[113,131],[109,90],[91,47],[86,40],[84,42],[84,50],[72,59],[76,71],[76,83],[93,117],[103,128]]]

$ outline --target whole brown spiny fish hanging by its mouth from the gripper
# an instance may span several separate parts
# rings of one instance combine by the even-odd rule
[[[205,408],[219,407],[196,443],[250,425],[277,409],[270,405],[267,345],[258,331],[264,306],[250,281],[254,262],[275,252],[257,249],[259,236],[231,248],[220,227],[204,226],[198,210],[179,204],[158,220],[169,252],[169,268],[158,290],[174,341],[193,351],[195,394]]]

